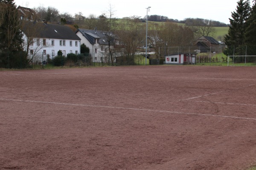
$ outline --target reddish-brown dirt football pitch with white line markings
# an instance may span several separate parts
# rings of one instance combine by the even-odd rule
[[[0,71],[1,170],[255,164],[255,67]]]

